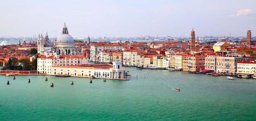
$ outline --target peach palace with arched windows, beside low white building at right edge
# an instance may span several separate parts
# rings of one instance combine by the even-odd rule
[[[243,61],[243,57],[236,56],[217,56],[216,57],[216,72],[235,74],[236,65]]]

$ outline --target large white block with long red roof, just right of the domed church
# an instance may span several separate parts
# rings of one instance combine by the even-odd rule
[[[121,51],[123,50],[123,46],[117,44],[117,45],[112,45],[110,43],[103,43],[103,42],[99,42],[96,44],[92,44],[90,46],[90,60],[91,61],[96,61],[97,60],[97,53],[103,50],[116,50],[116,51]]]

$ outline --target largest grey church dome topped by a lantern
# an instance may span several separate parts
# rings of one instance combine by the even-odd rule
[[[66,24],[63,26],[62,34],[58,37],[56,44],[75,44],[73,37],[68,34]]]

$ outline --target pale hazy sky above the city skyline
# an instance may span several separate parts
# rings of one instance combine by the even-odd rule
[[[256,0],[0,0],[0,38],[256,36]]]

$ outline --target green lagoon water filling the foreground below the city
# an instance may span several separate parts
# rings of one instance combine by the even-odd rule
[[[256,121],[256,79],[126,69],[129,81],[0,76],[0,120]]]

